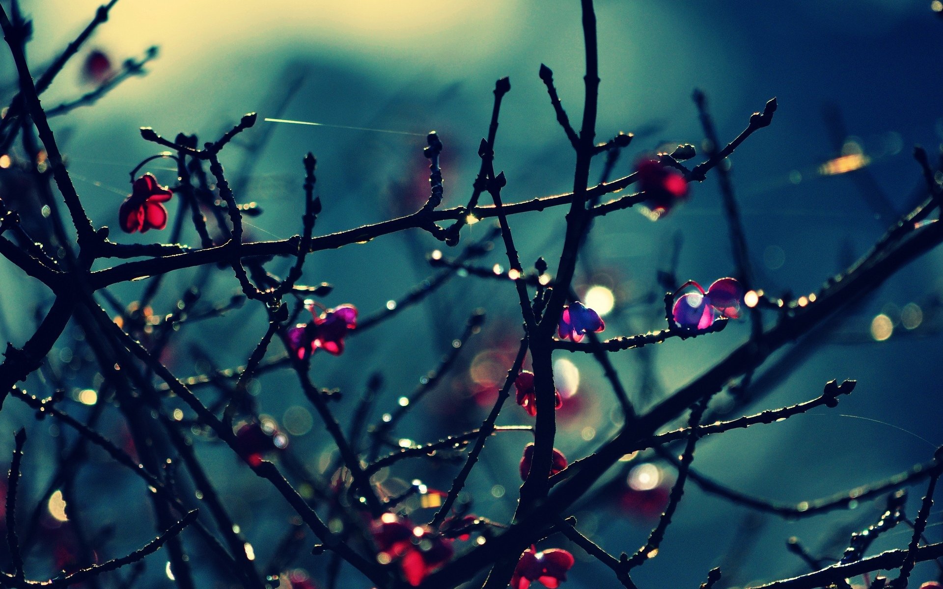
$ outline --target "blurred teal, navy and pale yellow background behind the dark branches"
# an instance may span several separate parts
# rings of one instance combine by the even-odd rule
[[[23,3],[34,22],[28,47],[34,72],[74,39],[98,6],[86,0]],[[706,92],[724,142],[736,137],[769,98],[778,98],[772,125],[754,134],[729,161],[757,284],[769,295],[793,299],[817,291],[921,200],[913,146],[922,144],[935,157],[943,142],[939,3],[600,0],[596,8],[602,78],[597,137],[636,134],[613,177],[631,172],[639,155],[665,146],[670,150],[692,143],[703,151],[703,131],[691,101],[695,88]],[[502,76],[509,76],[512,86],[501,113],[495,159],[496,169],[504,170],[508,180],[505,203],[571,189],[574,157],[554,120],[538,67],[545,63],[554,70],[563,104],[571,119],[579,121],[584,54],[577,2],[456,0],[433,6],[413,0],[285,0],[267,6],[122,0],[43,95],[43,105],[67,103],[93,90],[108,72],[120,70],[125,58],[141,58],[155,45],[158,55],[146,64],[146,75],[127,79],[93,106],[52,120],[92,221],[110,225],[113,239],[133,243],[166,238],[116,231],[118,205],[130,191],[127,173],[157,153],[154,144],[140,138],[139,127],[153,126],[168,138],[186,132],[211,140],[249,111],[258,111],[259,122],[222,156],[237,198],[263,211],[247,219],[248,240],[301,232],[301,158],[307,151],[318,157],[316,190],[323,202],[316,235],[413,212],[428,196],[422,147],[431,129],[445,145],[443,206],[465,205],[479,165],[478,143],[488,130],[491,90]],[[106,57],[101,66],[105,78],[90,77],[93,52]],[[15,71],[4,55],[0,81],[6,101],[15,91]],[[325,126],[267,123],[262,117]],[[594,181],[603,159],[592,172]],[[142,169],[147,171],[161,184],[175,183],[170,160],[153,161]],[[179,213],[175,205],[170,208],[173,222]],[[563,213],[548,210],[510,220],[526,268],[542,255],[554,272]],[[467,227],[454,250],[424,232],[410,231],[319,252],[308,257],[303,282],[331,283],[333,292],[321,302],[329,307],[355,304],[362,319],[389,309],[411,288],[437,275],[441,270],[427,261],[436,250],[453,258],[467,244],[486,239],[490,227],[485,221]],[[184,236],[198,244],[191,228]],[[284,274],[290,263],[276,259],[268,268]],[[499,243],[472,263],[501,274],[506,270],[504,247]],[[795,503],[929,460],[943,443],[943,371],[936,353],[943,341],[940,263],[939,252],[928,254],[842,319],[802,341],[798,351],[774,356],[768,363],[772,368],[755,375],[747,408],[727,393],[712,405],[720,412],[753,413],[813,399],[832,379],[857,379],[853,395],[842,398],[837,409],[706,438],[698,447],[695,468],[744,493]],[[105,267],[105,262],[99,264]],[[734,271],[713,176],[692,186],[687,203],[659,221],[629,209],[596,222],[576,285],[583,300],[604,313],[605,337],[664,327],[666,286],[658,283],[659,270],[673,273],[677,285],[693,279],[704,286]],[[225,302],[238,290],[226,270],[209,279],[200,275],[204,272],[181,270],[169,276],[153,303],[156,316],[171,312],[196,282],[203,285],[207,304]],[[34,330],[34,311],[52,300],[41,286],[25,281],[18,270],[0,262],[0,339],[14,345],[22,345]],[[127,304],[141,297],[143,287],[134,283],[108,290]],[[380,375],[383,385],[369,417],[370,423],[380,422],[396,409],[399,398],[428,378],[443,354],[455,350],[465,321],[479,307],[487,312],[480,333],[464,343],[455,366],[391,434],[408,446],[473,429],[486,415],[521,336],[509,280],[456,272],[422,304],[365,335],[351,336],[342,355],[316,354],[313,379],[319,386],[340,389],[343,398],[334,410],[346,427],[372,375]],[[246,304],[182,329],[165,360],[180,376],[236,367],[265,327],[262,309]],[[748,335],[749,325],[740,321],[718,335],[619,352],[613,361],[633,400],[644,408],[694,379]],[[95,383],[91,371],[78,366],[81,358],[73,350],[80,346],[71,337],[67,333],[59,341],[50,365],[66,372],[74,368],[68,408],[82,415],[87,411],[83,403],[96,401],[88,394],[82,399],[82,391],[100,381]],[[269,359],[279,355],[284,352],[273,346]],[[573,460],[616,431],[618,404],[591,357],[567,352],[554,357],[565,397],[556,447]],[[52,392],[41,375],[31,377],[25,387],[38,395]],[[288,439],[286,455],[290,452],[313,475],[330,478],[326,470],[333,461],[332,444],[290,370],[261,375],[250,390],[259,411],[277,422]],[[211,390],[205,394],[207,402],[214,399]],[[110,417],[101,429],[118,439],[123,435],[120,419],[108,411],[106,415]],[[530,425],[533,418],[509,404],[499,423]],[[8,401],[0,413],[0,434],[21,425],[34,433],[21,495],[23,508],[32,510],[56,470],[61,436],[71,439],[72,433],[35,421],[21,403]],[[221,444],[197,430],[193,434],[207,471],[255,547],[257,561],[269,562],[290,529],[285,504]],[[488,441],[462,498],[472,501],[472,513],[497,521],[513,514],[518,462],[528,441],[530,435],[521,433]],[[12,435],[0,435],[3,455],[11,449]],[[152,525],[140,524],[149,521],[150,509],[138,479],[98,450],[90,456],[75,483],[78,505],[68,509],[78,510],[95,529],[113,527],[103,542],[105,556],[112,558],[154,535]],[[273,459],[284,460],[277,452]],[[404,461],[381,478],[391,493],[414,480],[447,490],[460,464]],[[669,488],[672,476],[670,466],[644,456],[613,468],[591,509],[588,504],[576,509],[579,528],[610,552],[631,553],[644,542],[661,508],[652,491]],[[921,487],[912,490],[908,515],[916,515]],[[434,513],[422,508],[420,499],[407,503],[417,510],[418,521]],[[786,550],[786,538],[797,536],[816,556],[837,558],[851,532],[874,523],[884,506],[884,499],[876,499],[852,510],[785,521],[753,514],[688,483],[658,558],[637,569],[634,580],[639,587],[693,587],[717,565],[725,587],[800,574],[804,564]],[[68,527],[60,503],[49,499],[48,510],[52,520],[44,525],[50,527],[38,532],[40,542],[27,561],[27,575],[35,579],[52,574],[50,547],[64,542],[57,539],[64,532],[58,531]],[[931,516],[931,541],[939,541],[943,531],[941,513],[936,509]],[[186,532],[184,538],[200,586],[227,586],[212,565],[200,565],[205,548],[197,546],[198,537]],[[909,528],[901,525],[885,533],[872,551],[902,548],[909,538]],[[323,583],[329,557],[310,556],[313,542],[305,540],[289,568],[304,568]],[[559,536],[541,546],[571,548],[577,564],[569,587],[610,579],[610,571]],[[170,586],[166,556],[157,552],[147,563],[139,586]],[[341,587],[369,587],[353,570],[343,568],[340,574]],[[915,580],[938,574],[934,564],[919,564]]]

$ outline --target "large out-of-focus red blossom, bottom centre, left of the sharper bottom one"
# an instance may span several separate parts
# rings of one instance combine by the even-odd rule
[[[429,573],[452,558],[452,544],[432,532],[428,526],[413,525],[405,517],[384,514],[373,522],[373,541],[380,554],[380,563],[400,559],[406,582],[419,586]]]

